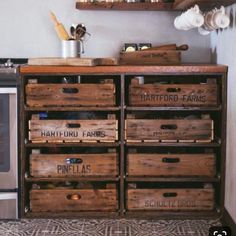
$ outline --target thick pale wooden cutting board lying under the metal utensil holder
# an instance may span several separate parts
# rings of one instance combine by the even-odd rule
[[[62,58],[62,57],[39,57],[29,58],[28,65],[34,66],[101,66],[117,65],[116,58]]]

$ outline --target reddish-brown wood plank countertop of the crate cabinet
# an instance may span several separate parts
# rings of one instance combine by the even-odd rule
[[[21,66],[26,74],[148,74],[148,73],[226,73],[228,67],[215,64],[182,64],[165,66]]]

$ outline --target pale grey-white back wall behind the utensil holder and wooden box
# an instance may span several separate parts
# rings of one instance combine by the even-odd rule
[[[92,36],[84,56],[116,57],[125,42],[187,43],[184,62],[210,61],[210,36],[175,30],[176,12],[79,11],[75,0],[0,0],[0,57],[59,56],[50,9],[67,29],[72,23],[85,23]]]

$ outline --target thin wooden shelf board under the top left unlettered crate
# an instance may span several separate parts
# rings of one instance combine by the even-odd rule
[[[120,107],[25,107],[25,111],[119,111]]]

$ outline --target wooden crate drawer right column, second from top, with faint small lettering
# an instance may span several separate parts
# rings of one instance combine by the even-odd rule
[[[127,119],[126,139],[147,142],[211,142],[213,127],[211,119]]]

